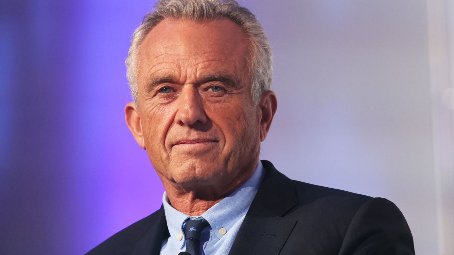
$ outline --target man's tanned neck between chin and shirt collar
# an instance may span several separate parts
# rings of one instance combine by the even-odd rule
[[[239,171],[227,185],[188,187],[162,178],[164,189],[173,208],[189,216],[200,216],[251,178],[257,161]]]

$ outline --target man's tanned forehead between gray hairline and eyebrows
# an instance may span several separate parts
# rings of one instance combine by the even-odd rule
[[[225,69],[219,71],[244,73],[247,69],[247,42],[242,29],[229,19],[204,22],[164,19],[148,33],[140,46],[139,73],[142,75],[139,76],[146,78],[154,72],[174,72],[177,69],[180,72],[200,72],[212,67]]]

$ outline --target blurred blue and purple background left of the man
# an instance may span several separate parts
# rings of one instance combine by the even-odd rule
[[[160,206],[124,123],[124,60],[153,1],[0,5],[0,254],[84,254]]]

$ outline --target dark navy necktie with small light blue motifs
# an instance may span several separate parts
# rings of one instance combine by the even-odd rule
[[[191,255],[200,255],[200,234],[209,225],[208,221],[203,218],[200,220],[188,220],[183,223],[183,231],[186,236],[186,251]]]

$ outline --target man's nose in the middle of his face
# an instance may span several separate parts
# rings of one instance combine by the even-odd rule
[[[178,125],[197,125],[207,122],[207,115],[203,109],[202,96],[195,87],[186,87],[177,99],[177,114],[175,123]]]

